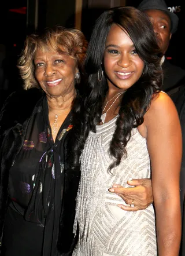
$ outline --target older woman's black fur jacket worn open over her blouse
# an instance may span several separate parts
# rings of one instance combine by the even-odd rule
[[[8,203],[9,170],[17,153],[23,146],[29,118],[43,94],[38,89],[21,90],[6,100],[0,114],[0,242],[2,244],[3,224]],[[67,152],[66,152],[67,153]],[[73,221],[75,199],[79,185],[79,171],[65,170],[64,194],[60,221],[58,248],[60,255],[71,255],[75,239]]]

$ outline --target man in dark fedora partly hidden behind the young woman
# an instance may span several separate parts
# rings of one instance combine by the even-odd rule
[[[164,56],[161,59],[164,81],[162,90],[171,95],[172,89],[181,86],[185,82],[185,71],[182,68],[172,65],[165,58],[170,39],[176,32],[179,18],[175,13],[169,12],[164,0],[143,0],[138,6],[139,10],[146,13],[153,24],[158,46]]]

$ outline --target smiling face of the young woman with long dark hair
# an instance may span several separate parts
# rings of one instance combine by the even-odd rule
[[[138,56],[131,38],[113,24],[105,43],[104,68],[109,89],[127,90],[143,74],[145,64]]]

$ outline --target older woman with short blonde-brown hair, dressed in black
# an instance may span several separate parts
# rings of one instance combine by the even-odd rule
[[[85,53],[78,30],[27,38],[18,62],[26,90],[1,112],[1,255],[58,255],[58,235],[61,253],[72,250],[79,173],[64,173],[64,148]]]

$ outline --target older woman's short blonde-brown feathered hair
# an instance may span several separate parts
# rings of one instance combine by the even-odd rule
[[[35,79],[34,56],[36,50],[51,51],[69,54],[77,61],[79,70],[86,54],[87,41],[79,30],[68,29],[60,26],[46,28],[42,35],[31,34],[25,40],[24,50],[18,60],[17,67],[24,81],[24,89],[38,87]]]

